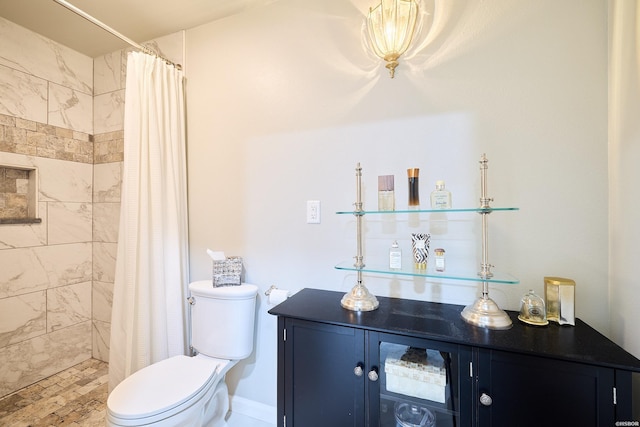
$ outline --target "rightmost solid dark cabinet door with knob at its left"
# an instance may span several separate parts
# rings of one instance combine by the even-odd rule
[[[614,370],[479,350],[480,426],[612,426]]]

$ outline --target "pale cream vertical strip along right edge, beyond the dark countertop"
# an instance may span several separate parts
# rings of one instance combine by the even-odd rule
[[[636,356],[640,355],[637,325],[640,314],[640,85],[638,75],[638,3],[610,2],[609,63],[609,268],[611,330],[613,339]],[[634,376],[634,419],[640,418],[640,374]]]

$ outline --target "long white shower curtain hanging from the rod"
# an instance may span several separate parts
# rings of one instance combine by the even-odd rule
[[[129,53],[110,390],[135,371],[186,352],[185,145],[182,72]]]

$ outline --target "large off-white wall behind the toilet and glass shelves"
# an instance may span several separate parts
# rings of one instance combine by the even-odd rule
[[[357,162],[366,207],[382,174],[395,174],[406,205],[409,167],[421,169],[424,201],[444,179],[455,206],[475,207],[487,153],[494,206],[520,208],[489,218],[491,263],[521,280],[492,286],[492,298],[518,309],[528,289],[543,293],[543,276],[573,278],[578,317],[609,335],[606,2],[437,2],[433,30],[393,80],[362,47],[369,1],[267,3],[186,35],[191,278],[210,277],[210,247],[243,256],[260,286],[256,352],[232,372],[231,393],[276,404],[271,284],[353,286],[333,266],[355,254],[354,220],[334,212],[351,209]],[[309,199],[322,202],[320,225],[305,223]],[[450,219],[434,238],[455,248],[449,265],[477,265],[479,218]],[[384,256],[395,238],[408,253],[408,234],[427,229],[437,232],[368,219],[366,255]],[[463,305],[479,290],[365,284]]]

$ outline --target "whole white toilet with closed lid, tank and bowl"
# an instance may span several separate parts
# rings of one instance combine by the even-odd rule
[[[174,356],[135,372],[107,399],[107,426],[226,426],[225,374],[253,351],[258,287],[189,284],[196,356]]]

